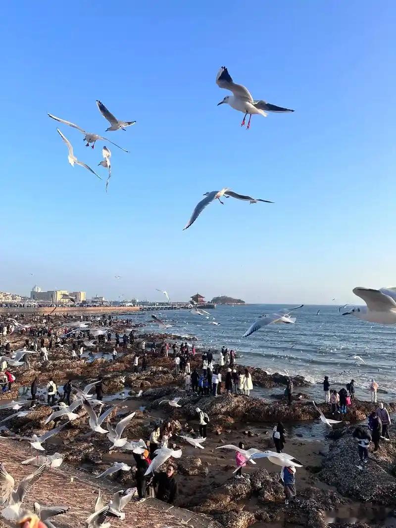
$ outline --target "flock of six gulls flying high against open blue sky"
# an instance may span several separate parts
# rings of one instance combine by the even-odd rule
[[[251,93],[246,87],[242,86],[242,84],[237,84],[233,82],[228,72],[228,69],[225,68],[224,66],[220,68],[218,74],[216,75],[216,84],[219,86],[219,88],[223,88],[223,89],[226,89],[232,92],[232,95],[224,97],[224,99],[219,102],[218,106],[227,104],[231,106],[232,108],[234,108],[235,110],[243,112],[244,117],[243,117],[241,126],[245,125],[246,116],[249,115],[249,121],[246,127],[247,129],[250,128],[250,120],[251,120],[252,115],[254,114],[259,114],[261,116],[266,117],[267,112],[276,112],[278,114],[279,113],[285,114],[287,112],[294,111],[289,108],[283,108],[283,107],[279,107],[276,105],[272,105],[270,103],[267,103],[266,101],[263,101],[262,99],[260,100],[253,99]],[[97,104],[97,107],[101,115],[105,119],[107,119],[107,121],[110,123],[110,127],[106,129],[107,132],[116,131],[116,130],[126,130],[127,127],[134,125],[136,123],[136,121],[122,121],[122,120],[117,119],[113,114],[111,114],[111,112],[106,108],[106,106],[103,105],[103,103],[99,100],[96,101],[96,104]],[[120,147],[119,145],[112,142],[110,139],[106,137],[100,136],[99,134],[93,134],[91,132],[88,132],[87,130],[79,127],[78,125],[72,123],[71,121],[61,119],[60,117],[56,117],[52,114],[48,114],[48,115],[52,119],[55,119],[56,121],[64,125],[67,125],[71,128],[75,128],[76,130],[81,132],[81,134],[83,134],[83,140],[84,142],[86,142],[87,147],[91,145],[91,147],[94,148],[95,143],[97,141],[103,141],[103,142],[111,143],[112,145],[120,148],[121,150],[124,150],[124,152],[129,153],[128,150]],[[63,142],[68,147],[68,161],[70,165],[71,166],[80,165],[81,167],[86,168],[92,174],[95,174],[95,176],[97,176],[101,180],[102,178],[101,176],[99,176],[99,174],[97,174],[89,165],[80,161],[77,158],[77,156],[73,152],[72,144],[70,143],[69,139],[61,132],[61,130],[59,128],[56,128],[56,130],[58,130],[58,133],[61,136]],[[106,192],[107,192],[108,184],[109,184],[110,177],[111,177],[111,163],[110,163],[111,152],[107,146],[103,146],[102,148],[102,157],[103,159],[98,165],[105,167],[108,171],[108,177],[106,181]],[[257,203],[257,202],[274,203],[269,200],[262,200],[259,198],[253,198],[252,196],[235,193],[228,187],[224,187],[220,191],[206,192],[204,196],[205,198],[201,200],[195,206],[195,209],[191,215],[191,218],[185,225],[184,230],[189,228],[195,222],[195,220],[202,213],[205,207],[209,205],[211,202],[214,202],[215,200],[219,200],[221,204],[224,204],[224,202],[220,200],[222,196],[225,196],[226,198],[233,197],[237,200],[246,201],[251,204]]]

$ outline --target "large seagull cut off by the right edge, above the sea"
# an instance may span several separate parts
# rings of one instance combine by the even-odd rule
[[[353,293],[363,299],[367,306],[353,308],[342,315],[354,315],[358,319],[381,323],[384,325],[396,324],[396,301],[380,290],[371,288],[354,288]]]

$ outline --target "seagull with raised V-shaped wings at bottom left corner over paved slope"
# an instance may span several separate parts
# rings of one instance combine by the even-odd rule
[[[40,466],[35,469],[33,473],[24,477],[19,486],[15,489],[15,480],[7,472],[3,464],[0,464],[0,484],[1,484],[1,499],[5,506],[1,512],[2,516],[8,520],[15,520],[20,514],[20,508],[24,501],[26,494],[29,492],[31,486],[44,473],[45,466]]]

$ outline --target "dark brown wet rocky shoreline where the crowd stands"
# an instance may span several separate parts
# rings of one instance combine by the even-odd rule
[[[81,362],[71,361],[65,357],[63,350],[53,350],[48,362],[40,363],[32,359],[29,369],[16,367],[15,388],[10,393],[0,393],[0,404],[3,400],[17,400],[21,386],[29,387],[34,376],[39,376],[41,387],[46,385],[50,377],[58,386],[62,386],[67,379],[85,384],[102,376],[106,388],[105,401],[122,401],[114,411],[118,413],[117,416],[136,411],[135,418],[126,429],[128,438],[133,440],[147,439],[155,423],[161,419],[172,421],[175,433],[197,432],[195,408],[199,406],[210,417],[205,450],[196,453],[192,446],[180,441],[176,435],[173,437],[175,445],[183,449],[182,458],[176,461],[177,478],[182,484],[178,502],[192,512],[210,515],[214,523],[220,523],[218,526],[247,528],[256,523],[259,523],[258,526],[274,526],[287,522],[289,526],[326,528],[331,525],[346,528],[350,525],[348,522],[329,523],[328,520],[333,514],[336,518],[334,512],[340,508],[346,508],[349,512],[357,511],[363,503],[387,508],[387,515],[392,519],[396,508],[395,444],[381,442],[380,450],[371,453],[369,464],[360,469],[356,442],[352,438],[356,423],[365,420],[374,409],[372,403],[355,400],[348,409],[347,420],[335,426],[334,430],[325,429],[323,424],[317,426],[322,427],[322,432],[315,440],[310,438],[309,429],[298,438],[287,439],[285,450],[301,460],[304,467],[297,471],[297,490],[301,502],[298,506],[285,508],[284,492],[276,466],[268,461],[259,461],[257,466],[246,468],[246,478],[235,480],[232,477],[235,467],[233,457],[229,452],[215,450],[215,447],[238,444],[238,441],[243,440],[247,448],[274,449],[271,433],[277,421],[290,423],[291,428],[297,423],[312,427],[313,423],[318,422],[318,413],[309,399],[309,383],[301,376],[293,378],[295,387],[301,392],[296,393],[296,400],[291,405],[275,398],[269,400],[234,394],[221,394],[213,398],[186,392],[183,375],[174,375],[171,357],[148,354],[147,370],[133,372],[133,359],[141,340],[161,343],[164,339],[180,341],[180,338],[145,333],[142,328],[138,328],[138,333],[135,345],[123,350],[115,361],[109,357],[112,346],[105,344],[99,353],[89,355]],[[10,341],[16,350],[23,338],[11,335]],[[200,354],[191,356],[191,369],[200,366]],[[249,367],[249,370],[257,387],[271,389],[286,385],[285,375],[268,374],[263,369],[253,367]],[[140,390],[143,396],[137,398]],[[182,407],[159,405],[163,399],[175,397],[180,397]],[[389,412],[396,412],[396,402],[386,406]],[[321,404],[320,408],[327,417],[331,417],[328,406]],[[0,420],[12,412],[0,410]],[[51,412],[52,409],[45,404],[37,406],[28,416],[9,420],[6,425],[10,431],[3,430],[2,435],[43,433],[54,426],[53,422],[44,424]],[[133,463],[130,452],[122,449],[109,452],[106,436],[91,434],[86,414],[82,410],[78,414],[79,417],[70,422],[59,437],[46,444],[48,454],[61,452],[67,463],[92,475],[99,474],[103,465],[111,460]],[[396,435],[393,427],[392,435]],[[116,473],[110,480],[124,488],[133,486],[134,468],[131,472]],[[365,512],[366,517],[361,514],[361,522],[354,524],[355,528],[383,525],[381,520],[373,522],[375,519],[370,517],[371,513]],[[368,524],[365,518],[369,520]],[[396,526],[396,522],[389,526]]]

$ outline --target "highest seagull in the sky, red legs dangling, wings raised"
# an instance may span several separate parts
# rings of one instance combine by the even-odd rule
[[[224,97],[224,99],[219,102],[218,106],[227,103],[227,105],[230,105],[235,110],[243,112],[244,118],[241,122],[241,127],[243,127],[245,124],[245,119],[248,114],[250,117],[248,126],[246,127],[247,129],[250,128],[250,119],[252,114],[261,114],[262,116],[267,117],[267,112],[294,112],[294,110],[290,110],[289,108],[271,105],[266,101],[254,100],[247,88],[242,86],[242,84],[235,84],[233,82],[225,66],[222,66],[218,71],[216,76],[216,84],[220,88],[225,88],[226,90],[230,90],[232,92],[233,95]]]

